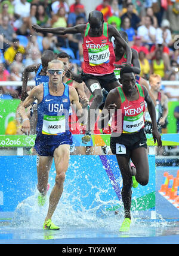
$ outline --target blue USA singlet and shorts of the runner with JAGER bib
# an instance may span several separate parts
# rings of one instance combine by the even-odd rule
[[[44,97],[38,104],[38,122],[36,126],[35,149],[39,155],[53,156],[54,150],[61,144],[72,145],[69,131],[69,86],[63,83],[61,96],[49,92],[48,83],[44,83]]]

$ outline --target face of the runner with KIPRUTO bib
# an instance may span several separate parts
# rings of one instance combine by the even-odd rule
[[[135,89],[135,76],[134,73],[125,73],[121,77],[122,88],[126,93],[131,94]]]

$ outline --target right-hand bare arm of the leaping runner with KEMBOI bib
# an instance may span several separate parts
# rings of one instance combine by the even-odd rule
[[[118,41],[119,44],[122,45],[122,47],[124,47],[125,49],[125,53],[126,53],[126,65],[129,65],[129,67],[131,66],[132,63],[132,51],[131,48],[128,46],[128,43],[126,43],[126,41],[124,40],[124,38],[121,37],[121,35],[119,34],[119,31],[112,25],[109,25],[109,38],[114,37],[116,41]]]

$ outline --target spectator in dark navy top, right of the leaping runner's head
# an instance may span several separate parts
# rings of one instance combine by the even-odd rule
[[[140,17],[134,13],[134,5],[132,3],[127,4],[127,11],[125,14],[121,16],[121,21],[125,18],[128,17],[129,20],[131,21],[131,27],[137,31],[138,26],[140,25]]]

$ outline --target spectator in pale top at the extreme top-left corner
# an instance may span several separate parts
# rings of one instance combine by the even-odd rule
[[[2,17],[8,16],[10,22],[14,20],[14,5],[10,1],[2,1],[0,5],[0,24],[2,24]]]

